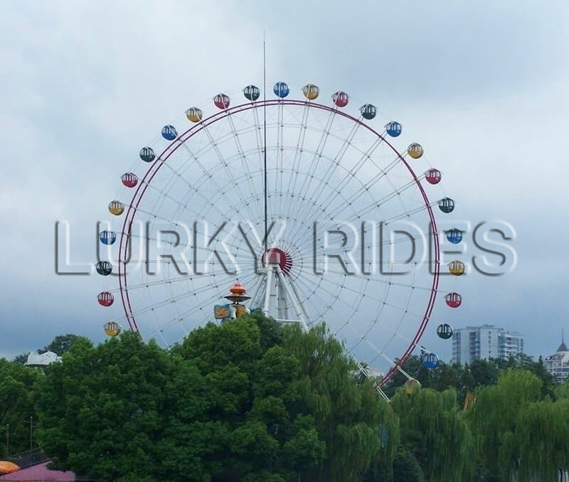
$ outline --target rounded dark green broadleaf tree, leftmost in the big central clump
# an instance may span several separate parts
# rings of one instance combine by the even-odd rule
[[[80,338],[45,373],[38,436],[58,468],[105,480],[155,474],[174,376],[164,350],[130,332],[97,347]]]

